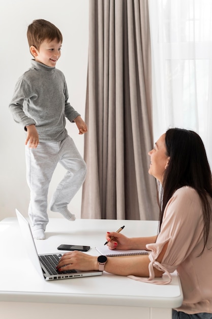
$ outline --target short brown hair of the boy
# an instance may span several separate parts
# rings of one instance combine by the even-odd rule
[[[33,45],[37,50],[46,39],[49,42],[54,39],[58,42],[63,42],[63,36],[59,29],[51,22],[43,19],[34,20],[29,24],[26,35],[29,47]]]

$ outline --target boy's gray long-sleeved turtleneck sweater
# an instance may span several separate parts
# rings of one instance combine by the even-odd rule
[[[18,79],[9,109],[23,128],[36,125],[40,141],[58,142],[68,135],[65,117],[73,122],[80,115],[68,97],[64,74],[32,60],[32,67]]]

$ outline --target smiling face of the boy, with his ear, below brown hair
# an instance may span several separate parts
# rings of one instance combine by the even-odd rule
[[[37,62],[54,67],[61,55],[61,47],[61,42],[57,42],[57,40],[49,42],[49,40],[46,39],[41,43],[39,50],[34,46],[31,46],[30,50]]]

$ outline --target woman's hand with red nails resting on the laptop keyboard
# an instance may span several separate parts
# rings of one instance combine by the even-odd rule
[[[65,270],[98,270],[99,265],[97,256],[90,256],[81,251],[70,251],[65,253],[59,260],[57,270],[63,272]]]

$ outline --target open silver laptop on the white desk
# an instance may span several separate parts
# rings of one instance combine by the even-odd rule
[[[79,270],[70,270],[64,272],[58,272],[56,270],[56,265],[58,260],[62,257],[63,254],[38,254],[36,245],[34,242],[33,234],[29,226],[28,221],[23,217],[23,215],[16,209],[16,215],[18,218],[18,223],[21,229],[23,236],[23,241],[26,246],[26,251],[28,257],[31,259],[34,267],[45,280],[57,280],[57,279],[70,279],[70,278],[79,278],[79,277],[90,277],[90,276],[99,276],[102,275],[101,271],[79,271]]]

